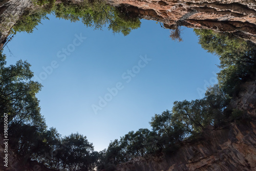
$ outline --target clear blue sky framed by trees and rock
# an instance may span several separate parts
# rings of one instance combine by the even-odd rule
[[[62,136],[87,136],[96,151],[129,131],[150,129],[155,114],[202,97],[217,81],[219,59],[201,48],[193,29],[183,28],[178,43],[150,20],[123,36],[49,18],[8,43],[8,65],[28,60],[44,86],[37,97],[47,125]]]

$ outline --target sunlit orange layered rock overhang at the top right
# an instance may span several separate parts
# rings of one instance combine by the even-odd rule
[[[162,22],[166,28],[186,26],[233,32],[256,42],[256,3],[253,0],[107,0],[124,12]]]

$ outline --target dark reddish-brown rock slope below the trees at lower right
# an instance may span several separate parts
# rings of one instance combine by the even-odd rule
[[[138,157],[117,170],[256,170],[256,121],[207,130],[201,139],[180,144],[176,152]]]

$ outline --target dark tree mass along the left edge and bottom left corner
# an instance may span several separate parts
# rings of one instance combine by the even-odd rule
[[[0,53],[0,112],[8,113],[8,138],[15,153],[24,163],[37,160],[53,169],[94,170],[99,154],[85,136],[61,138],[53,127],[47,129],[35,97],[41,84],[31,80],[30,64],[18,60],[8,67],[5,59]]]

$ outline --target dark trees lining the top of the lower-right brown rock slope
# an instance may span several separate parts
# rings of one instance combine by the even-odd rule
[[[100,169],[110,168],[139,156],[173,153],[184,139],[199,138],[209,126],[218,126],[228,118],[230,97],[216,84],[208,88],[203,99],[175,101],[172,112],[155,114],[152,131],[139,129],[116,139],[101,153]]]

